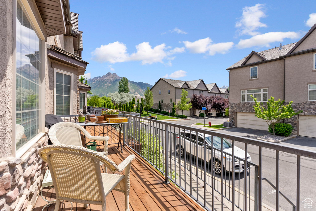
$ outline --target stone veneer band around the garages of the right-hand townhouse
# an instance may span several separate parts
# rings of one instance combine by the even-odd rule
[[[285,105],[289,104],[289,102],[285,102]],[[252,107],[254,103],[246,102],[246,103],[229,103],[229,121],[235,125],[235,112],[251,112],[254,113],[254,108]],[[266,107],[266,103],[264,103]],[[233,107],[233,108],[231,108]],[[303,111],[300,115],[316,115],[316,102],[315,101],[307,101],[302,103],[292,103],[293,110]],[[292,124],[293,132],[292,134],[297,135],[297,119],[298,116],[294,116],[290,119],[285,119],[284,123]],[[283,122],[283,121],[281,121]]]

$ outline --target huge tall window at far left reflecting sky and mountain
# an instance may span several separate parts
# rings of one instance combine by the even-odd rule
[[[21,151],[43,130],[42,40],[33,29],[21,3],[16,5],[16,107],[15,150]]]

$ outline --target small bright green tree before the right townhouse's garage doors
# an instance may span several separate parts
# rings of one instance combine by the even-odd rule
[[[264,119],[267,122],[267,124],[271,125],[273,129],[273,135],[275,135],[274,126],[281,119],[292,118],[293,116],[303,112],[295,112],[293,110],[293,101],[289,102],[288,105],[284,105],[284,100],[281,101],[281,99],[278,99],[275,101],[274,97],[271,97],[267,102],[267,108],[264,108],[260,105],[259,102],[257,102],[256,98],[254,98],[253,96],[251,97],[255,101],[255,105],[253,106],[253,108],[255,109],[255,116],[260,119]]]

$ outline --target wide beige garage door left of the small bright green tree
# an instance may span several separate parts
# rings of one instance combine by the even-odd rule
[[[265,120],[255,117],[255,113],[237,112],[236,126],[256,130],[268,130]]]

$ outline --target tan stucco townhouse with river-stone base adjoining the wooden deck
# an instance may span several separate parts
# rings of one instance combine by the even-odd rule
[[[69,0],[0,0],[0,209],[32,210],[46,114],[77,114],[82,32]]]

